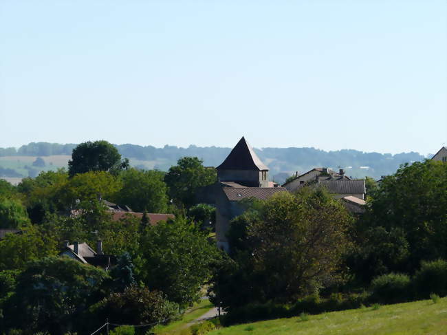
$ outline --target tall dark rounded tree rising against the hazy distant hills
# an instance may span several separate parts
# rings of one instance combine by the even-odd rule
[[[129,160],[121,160],[118,149],[107,141],[84,142],[73,149],[68,162],[71,177],[88,171],[119,171],[129,167]]]

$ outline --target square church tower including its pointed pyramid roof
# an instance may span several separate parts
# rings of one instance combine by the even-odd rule
[[[219,182],[235,182],[246,187],[268,187],[268,167],[243,137],[216,169]]]

